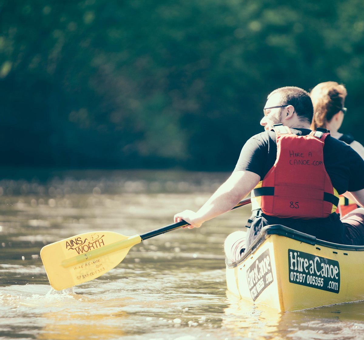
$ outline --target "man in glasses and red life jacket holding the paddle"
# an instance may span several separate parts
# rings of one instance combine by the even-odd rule
[[[265,132],[251,137],[245,143],[232,175],[197,212],[185,210],[176,214],[174,221],[183,219],[190,224],[189,228],[200,227],[206,220],[232,209],[257,187],[255,191],[260,190],[261,193],[252,194],[255,196],[255,204],[253,215],[247,224],[250,228],[246,246],[268,224],[283,224],[329,242],[364,245],[364,208],[355,210],[350,221],[341,221],[340,216],[332,212],[336,209],[338,194],[347,191],[363,207],[364,161],[350,146],[329,136],[325,131],[311,136],[309,128],[312,116],[312,102],[306,91],[298,87],[282,87],[270,93],[261,120]],[[275,124],[282,126],[273,127]],[[280,129],[280,132],[277,134],[272,128]],[[277,139],[281,140],[279,148],[282,152],[278,158],[283,164],[279,166],[275,164]],[[313,154],[313,150],[316,153]],[[272,171],[281,176],[273,176],[273,184],[267,186],[267,181],[272,181]],[[277,192],[282,189],[281,184],[274,183],[276,177],[300,182],[303,178],[303,182],[293,188],[289,187],[292,184],[288,184],[288,189],[287,186],[283,188],[283,191],[288,190],[287,195],[294,196],[297,193],[294,199],[290,200],[290,196],[287,196],[280,204],[269,208],[269,205],[273,206],[272,197],[276,199]],[[265,187],[263,191],[262,187]],[[312,199],[305,197],[305,192],[312,192]],[[322,207],[321,210],[312,212],[317,204]],[[230,258],[237,259],[241,253],[239,247],[245,248],[244,237],[235,241],[231,242],[230,238]],[[230,249],[225,245],[226,248]]]

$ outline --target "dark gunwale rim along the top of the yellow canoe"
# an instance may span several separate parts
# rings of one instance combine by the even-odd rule
[[[227,260],[225,260],[226,266],[228,268],[234,268],[240,265],[242,262],[245,261],[246,258],[254,253],[256,249],[258,249],[258,247],[265,241],[265,239],[270,237],[270,235],[284,236],[299,242],[308,243],[309,245],[317,245],[331,249],[339,249],[344,251],[364,251],[364,246],[342,245],[339,243],[323,241],[317,239],[312,235],[305,234],[304,232],[282,226],[281,224],[272,224],[270,226],[265,226],[262,228],[256,240],[252,243],[249,249],[245,251],[244,255],[238,261],[227,262]]]

